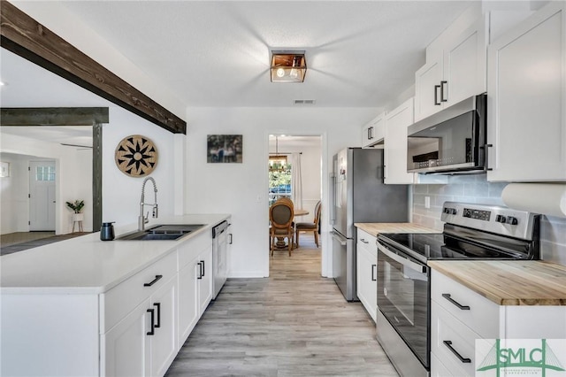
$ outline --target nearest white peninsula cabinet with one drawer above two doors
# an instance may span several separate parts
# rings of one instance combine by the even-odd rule
[[[177,254],[170,253],[101,297],[105,375],[161,376],[171,365],[177,354],[176,262]]]

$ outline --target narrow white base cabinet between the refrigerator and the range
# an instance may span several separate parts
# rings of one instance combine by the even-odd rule
[[[357,229],[357,297],[374,322],[378,311],[378,246],[376,241],[373,235]]]

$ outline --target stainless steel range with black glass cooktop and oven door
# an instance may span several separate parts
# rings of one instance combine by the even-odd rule
[[[539,215],[446,202],[439,234],[378,235],[377,337],[402,376],[430,371],[428,260],[539,259]]]

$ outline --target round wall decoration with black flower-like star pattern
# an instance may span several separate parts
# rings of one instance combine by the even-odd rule
[[[130,177],[143,177],[156,168],[157,148],[146,136],[126,136],[116,147],[115,160],[120,172]]]

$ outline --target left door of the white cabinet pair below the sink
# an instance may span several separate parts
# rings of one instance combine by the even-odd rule
[[[187,340],[188,335],[193,331],[196,321],[199,318],[198,304],[198,284],[197,276],[199,270],[194,263],[189,263],[179,272],[179,347]]]

